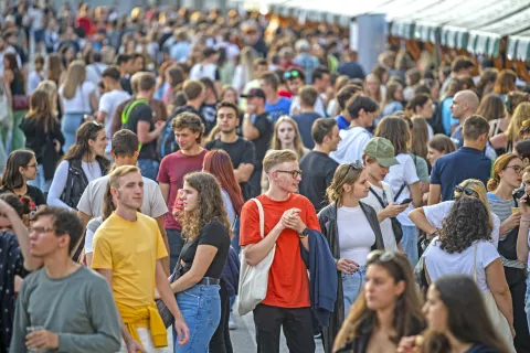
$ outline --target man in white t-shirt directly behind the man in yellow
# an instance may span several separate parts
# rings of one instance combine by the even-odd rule
[[[110,153],[115,159],[116,167],[136,165],[139,153],[138,143],[138,137],[130,130],[124,129],[114,133]],[[85,227],[91,218],[103,215],[104,195],[109,175],[105,175],[92,181],[81,196],[77,204],[77,215],[83,220]],[[163,229],[163,217],[168,213],[168,207],[163,201],[162,192],[155,181],[145,176],[141,179],[145,192],[140,211],[142,214],[157,221],[166,249],[168,249],[168,237]],[[169,257],[163,258],[162,264],[165,271],[169,276],[171,274],[169,271]]]

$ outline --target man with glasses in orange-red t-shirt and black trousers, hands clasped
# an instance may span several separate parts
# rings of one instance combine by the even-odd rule
[[[240,229],[240,245],[245,247],[251,266],[263,260],[276,244],[267,296],[254,309],[257,352],[279,352],[280,327],[290,352],[315,352],[309,279],[300,246],[309,250],[308,231],[320,232],[317,214],[311,202],[297,194],[301,171],[295,152],[269,151],[263,171],[269,189],[256,199],[265,214],[265,237],[259,235],[259,213],[252,200],[243,206]]]

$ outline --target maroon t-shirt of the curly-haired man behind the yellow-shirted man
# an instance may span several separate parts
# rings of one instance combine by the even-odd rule
[[[206,154],[206,150],[202,150],[199,154],[187,156],[181,151],[166,156],[160,162],[160,170],[158,171],[158,182],[169,184],[168,208],[173,210],[174,199],[179,189],[184,185],[184,175],[191,172],[202,170],[202,161]],[[182,227],[180,223],[174,220],[171,212],[166,213],[163,220],[163,227],[167,229],[178,229]]]

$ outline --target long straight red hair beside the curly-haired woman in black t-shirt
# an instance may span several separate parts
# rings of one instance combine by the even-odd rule
[[[241,194],[241,188],[235,180],[234,170],[230,154],[223,150],[212,150],[204,156],[202,162],[203,170],[212,173],[221,184],[221,189],[226,191],[234,207],[235,214],[241,215],[241,208],[244,201]]]

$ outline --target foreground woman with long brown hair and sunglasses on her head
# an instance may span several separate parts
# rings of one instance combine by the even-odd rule
[[[406,256],[374,250],[368,255],[367,284],[326,352],[395,352],[404,336],[425,329],[420,295]]]

